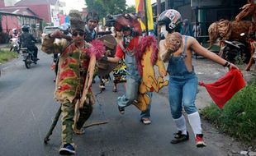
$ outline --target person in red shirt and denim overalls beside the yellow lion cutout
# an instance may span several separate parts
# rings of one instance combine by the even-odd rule
[[[135,58],[135,53],[137,52],[137,48],[140,47],[141,41],[141,29],[140,23],[137,21],[135,16],[130,14],[123,15],[124,18],[129,23],[133,20],[134,23],[139,25],[132,25],[130,22],[124,25],[115,25],[117,31],[123,32],[123,41],[119,42],[116,47],[116,56],[115,57],[106,57],[108,62],[119,62],[123,57],[125,57],[126,67],[127,67],[127,75],[126,75],[126,94],[118,97],[117,105],[119,112],[121,114],[125,113],[125,108],[130,104],[134,103],[138,97],[138,89],[140,86],[141,76],[137,69],[138,61]],[[148,93],[149,97],[152,97],[152,93]],[[140,113],[140,121],[145,125],[151,123],[150,117],[150,104],[145,111]]]

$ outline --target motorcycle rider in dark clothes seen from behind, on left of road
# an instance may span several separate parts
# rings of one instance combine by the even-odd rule
[[[33,52],[33,61],[36,62],[39,60],[37,58],[38,48],[35,45],[37,40],[31,33],[29,33],[29,29],[30,27],[28,25],[23,25],[21,27],[22,33],[20,36],[20,42],[22,48],[27,48],[29,51]]]

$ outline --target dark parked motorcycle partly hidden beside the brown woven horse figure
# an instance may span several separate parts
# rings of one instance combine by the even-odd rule
[[[224,41],[224,47],[221,48],[220,54],[225,60],[234,64],[248,63],[250,59],[250,52],[246,42],[239,41]]]

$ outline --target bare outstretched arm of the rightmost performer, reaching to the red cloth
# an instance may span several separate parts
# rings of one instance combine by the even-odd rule
[[[212,53],[211,51],[207,50],[206,48],[202,47],[201,44],[197,42],[197,39],[190,37],[189,44],[191,44],[191,48],[195,53],[210,59],[211,61],[217,62],[218,64],[231,68],[236,68],[233,63],[227,62],[225,59],[219,57],[216,53]]]

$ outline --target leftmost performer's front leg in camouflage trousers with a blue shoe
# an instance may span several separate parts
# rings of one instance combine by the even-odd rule
[[[59,154],[75,154],[73,145],[74,104],[68,100],[61,104],[62,112],[62,145]]]

